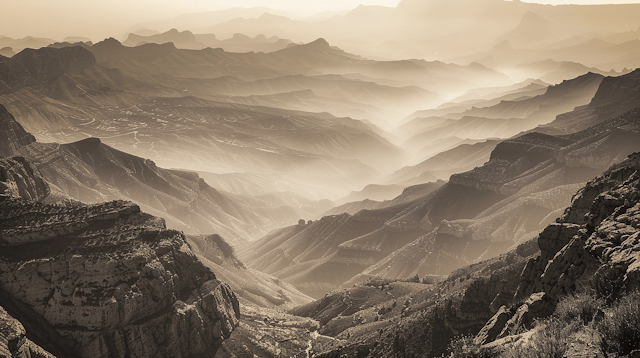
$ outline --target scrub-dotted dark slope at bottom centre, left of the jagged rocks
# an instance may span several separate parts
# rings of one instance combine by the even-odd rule
[[[319,332],[335,338],[331,345],[311,343],[319,357],[439,357],[454,336],[480,330],[494,301],[516,291],[514,282],[536,249],[528,243],[422,283],[373,278],[292,312],[319,320]]]

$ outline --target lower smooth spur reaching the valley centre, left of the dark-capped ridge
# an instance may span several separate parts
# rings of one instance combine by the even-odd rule
[[[247,245],[241,256],[251,267],[318,297],[431,231],[433,223],[473,217],[501,198],[491,191],[445,184],[409,202],[275,231]]]

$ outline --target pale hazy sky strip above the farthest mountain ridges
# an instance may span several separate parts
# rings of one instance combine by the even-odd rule
[[[429,1],[429,0],[424,0]],[[229,7],[265,6],[316,13],[359,4],[395,6],[399,0],[2,0],[0,35],[119,37],[137,23]],[[639,0],[540,0],[561,3],[635,3]]]

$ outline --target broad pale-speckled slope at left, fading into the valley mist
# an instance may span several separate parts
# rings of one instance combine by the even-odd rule
[[[116,58],[119,49],[134,51],[125,56],[127,63],[144,63],[145,57],[137,59],[135,55],[155,56],[153,49],[137,53],[139,48],[117,42],[111,48],[109,44],[106,41],[91,49]],[[162,52],[162,46],[153,46]],[[70,57],[67,52],[78,59],[65,65]],[[24,81],[14,84],[7,79],[11,83],[7,82],[10,86],[2,100],[27,130],[44,141],[64,143],[94,136],[117,149],[154,158],[164,167],[251,172],[307,189],[305,192],[320,187],[324,189],[320,195],[331,196],[361,187],[378,176],[371,165],[386,167],[401,161],[402,152],[383,138],[381,131],[361,121],[185,96],[193,94],[190,91],[209,93],[218,80],[210,83],[175,74],[106,69],[100,61],[92,65],[94,56],[79,47],[33,53],[42,68],[53,68],[43,72],[48,80],[39,81],[24,70]],[[15,58],[5,63],[8,73],[19,72],[13,67],[25,67]],[[207,70],[191,60],[185,60],[189,66]],[[47,61],[53,64],[47,65]],[[67,67],[75,72],[64,72]],[[308,180],[310,177],[314,180]]]

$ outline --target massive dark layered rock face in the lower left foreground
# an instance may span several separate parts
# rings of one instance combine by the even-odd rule
[[[184,235],[129,202],[5,191],[0,242],[0,305],[57,356],[213,356],[238,324],[235,295]]]

